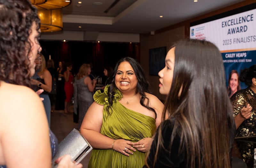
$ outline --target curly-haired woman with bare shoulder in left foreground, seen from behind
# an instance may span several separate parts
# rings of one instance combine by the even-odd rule
[[[51,167],[44,106],[29,88],[42,50],[39,36],[40,20],[29,1],[0,0],[0,167]],[[69,155],[56,162],[75,167]]]

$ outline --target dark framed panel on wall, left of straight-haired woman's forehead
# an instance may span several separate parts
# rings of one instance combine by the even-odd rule
[[[149,49],[149,75],[158,76],[158,72],[164,68],[166,46]]]

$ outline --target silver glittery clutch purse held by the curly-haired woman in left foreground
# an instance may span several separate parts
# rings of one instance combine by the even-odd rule
[[[92,150],[92,146],[75,128],[60,142],[56,155],[52,158],[52,168],[56,168],[58,164],[54,161],[63,155],[70,155],[71,161],[76,164]]]

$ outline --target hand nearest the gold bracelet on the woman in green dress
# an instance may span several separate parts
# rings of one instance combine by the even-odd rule
[[[129,156],[129,154],[131,155],[133,154],[132,151],[134,152],[136,151],[136,149],[132,147],[133,144],[134,143],[129,140],[118,139],[118,140],[115,140],[113,144],[113,149],[125,156]]]

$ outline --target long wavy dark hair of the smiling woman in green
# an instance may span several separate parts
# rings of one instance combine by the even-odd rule
[[[155,113],[155,116],[156,116],[156,111],[154,108],[151,108],[149,107],[149,99],[146,97],[146,94],[145,93],[151,93],[150,90],[149,90],[149,83],[148,83],[148,80],[146,79],[145,77],[145,72],[144,70],[141,68],[140,64],[133,58],[131,57],[125,57],[125,58],[122,58],[121,60],[119,60],[117,63],[116,63],[116,67],[112,73],[112,76],[111,76],[111,85],[108,87],[108,102],[109,102],[109,105],[108,105],[108,113],[109,113],[109,108],[111,108],[112,104],[113,104],[113,99],[114,99],[114,88],[116,87],[116,84],[115,84],[115,77],[116,77],[116,72],[117,72],[117,68],[118,66],[120,65],[121,62],[129,62],[130,65],[132,66],[133,70],[134,70],[134,73],[137,77],[137,80],[138,80],[138,83],[137,83],[137,86],[136,86],[136,93],[140,93],[140,104],[143,106],[143,107],[146,107],[148,108],[150,111],[153,111]],[[148,100],[146,104],[144,104],[145,100]],[[110,114],[110,113],[109,113]]]

